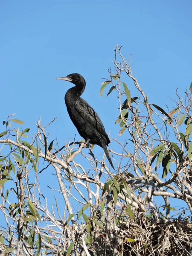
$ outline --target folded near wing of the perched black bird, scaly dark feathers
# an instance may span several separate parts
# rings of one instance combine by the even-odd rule
[[[76,111],[81,115],[85,122],[88,122],[99,133],[106,137],[106,131],[101,119],[94,109],[82,98],[79,98],[75,103]],[[107,135],[108,137],[108,135]]]

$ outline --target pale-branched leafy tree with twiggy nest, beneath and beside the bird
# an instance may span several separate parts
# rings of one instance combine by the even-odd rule
[[[84,143],[60,150],[56,139],[49,143],[51,123],[43,127],[40,119],[27,142],[29,128],[12,128],[22,121],[3,121],[2,255],[191,255],[192,84],[184,99],[176,93],[174,108],[151,103],[120,49],[100,90],[110,87],[107,96],[118,99],[120,137],[109,150],[116,172]],[[52,206],[39,182],[41,175],[48,182],[50,170],[58,182],[49,187]]]

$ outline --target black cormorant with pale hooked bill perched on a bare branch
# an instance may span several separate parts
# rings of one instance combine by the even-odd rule
[[[109,163],[115,170],[107,149],[110,140],[104,125],[94,109],[81,98],[81,94],[84,92],[86,86],[84,77],[78,73],[73,73],[65,77],[57,77],[56,79],[75,84],[65,94],[65,104],[70,119],[81,137],[84,138],[85,144],[96,144],[103,148]]]

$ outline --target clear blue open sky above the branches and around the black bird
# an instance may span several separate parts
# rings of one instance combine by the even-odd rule
[[[55,78],[80,73],[87,82],[83,98],[118,139],[116,96],[106,97],[106,89],[99,97],[113,46],[123,45],[127,60],[133,54],[132,71],[149,101],[171,107],[169,96],[177,87],[183,94],[192,80],[191,10],[190,0],[1,0],[0,122],[16,113],[32,137],[39,116],[42,125],[57,116],[50,138],[61,146],[75,134],[79,140],[64,104],[71,84]]]

